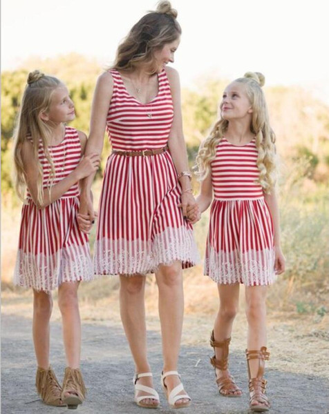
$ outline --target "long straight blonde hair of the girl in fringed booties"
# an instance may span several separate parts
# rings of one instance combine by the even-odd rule
[[[17,118],[17,126],[14,131],[14,166],[15,189],[19,198],[24,201],[26,192],[26,172],[23,168],[21,150],[23,143],[28,139],[33,147],[32,162],[37,165],[39,176],[37,178],[37,201],[44,201],[44,189],[42,186],[42,166],[39,161],[39,146],[41,144],[44,155],[50,165],[50,181],[55,177],[55,166],[49,153],[48,146],[52,136],[52,130],[40,117],[41,112],[47,112],[50,106],[53,92],[62,82],[59,79],[44,75],[35,70],[30,72],[26,88],[21,100],[21,107]]]

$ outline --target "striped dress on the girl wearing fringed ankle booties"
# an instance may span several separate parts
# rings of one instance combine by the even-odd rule
[[[66,126],[62,143],[50,146],[49,152],[55,164],[55,185],[79,164],[81,144],[77,130]],[[41,141],[39,160],[43,168],[43,186],[47,188],[50,165]],[[62,282],[93,278],[88,236],[77,225],[78,209],[77,184],[43,209],[37,208],[27,193],[21,213],[15,284],[49,292]]]

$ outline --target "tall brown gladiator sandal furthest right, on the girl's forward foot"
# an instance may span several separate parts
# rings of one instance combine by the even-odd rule
[[[247,356],[249,375],[250,410],[257,413],[261,411],[268,411],[270,409],[270,402],[265,395],[267,381],[263,378],[263,375],[265,372],[265,361],[268,361],[270,353],[266,351],[266,346],[262,346],[260,351],[248,351],[246,349],[245,355]],[[251,377],[250,359],[259,360],[259,368],[255,378]],[[257,404],[253,404],[254,402]]]

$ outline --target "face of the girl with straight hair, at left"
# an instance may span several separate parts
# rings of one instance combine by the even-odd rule
[[[41,112],[41,119],[53,124],[61,124],[75,119],[74,104],[66,86],[59,85],[53,91],[49,109],[47,112]]]

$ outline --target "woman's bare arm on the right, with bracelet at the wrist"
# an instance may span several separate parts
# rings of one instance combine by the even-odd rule
[[[166,68],[167,76],[171,88],[171,97],[173,99],[173,123],[169,134],[169,150],[173,159],[173,164],[178,174],[182,171],[189,171],[189,164],[187,161],[187,150],[184,135],[182,132],[182,110],[180,103],[180,81],[178,72],[173,68]],[[187,206],[194,206],[196,201],[191,189],[191,181],[189,177],[180,177],[180,184],[182,186],[181,204],[182,213],[187,215]]]

